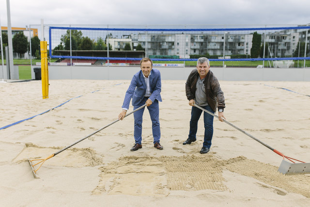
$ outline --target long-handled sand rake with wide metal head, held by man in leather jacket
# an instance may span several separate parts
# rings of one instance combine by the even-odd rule
[[[198,109],[201,109],[202,111],[205,111],[205,112],[211,114],[212,116],[218,118],[218,116],[215,115],[214,113],[211,113],[210,111],[207,111],[207,110],[203,109],[202,107],[200,107],[200,106],[198,106],[198,105],[196,105],[196,104],[194,104],[194,106],[197,107]],[[255,137],[253,137],[252,135],[250,135],[248,132],[246,132],[246,131],[240,129],[239,127],[234,126],[232,123],[226,121],[225,119],[223,119],[223,121],[224,121],[226,124],[228,124],[228,125],[234,127],[235,129],[241,131],[242,133],[248,135],[248,136],[249,136],[250,138],[252,138],[253,140],[255,140],[255,141],[257,141],[257,142],[263,144],[265,147],[271,149],[272,151],[274,151],[275,153],[277,153],[279,156],[282,156],[283,160],[282,160],[282,162],[281,162],[281,164],[280,164],[280,166],[279,166],[279,169],[278,169],[278,171],[279,171],[280,173],[285,174],[285,175],[310,174],[310,163],[306,163],[306,162],[300,161],[300,160],[298,160],[298,159],[294,159],[294,158],[287,157],[287,156],[283,155],[281,152],[279,152],[278,150],[276,150],[276,149],[272,148],[271,146],[269,146],[269,145],[263,143],[263,142],[260,141],[259,139],[257,139],[257,138],[255,138]],[[288,162],[288,161],[286,161],[285,159],[288,159],[288,160],[291,161],[291,162]],[[298,161],[299,163],[295,163],[295,161]]]

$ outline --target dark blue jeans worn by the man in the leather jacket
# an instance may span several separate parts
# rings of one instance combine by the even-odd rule
[[[202,106],[202,108],[214,113],[209,105]],[[192,141],[196,141],[196,133],[198,128],[198,120],[202,114],[202,110],[197,107],[192,107],[191,118],[189,122],[189,134],[188,138]],[[203,146],[210,149],[211,141],[213,137],[213,116],[207,112],[203,112],[203,121],[204,121],[204,140]]]

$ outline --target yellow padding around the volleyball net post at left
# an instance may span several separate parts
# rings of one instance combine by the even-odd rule
[[[48,98],[47,41],[40,41],[42,97]]]

